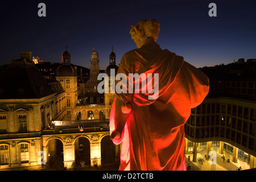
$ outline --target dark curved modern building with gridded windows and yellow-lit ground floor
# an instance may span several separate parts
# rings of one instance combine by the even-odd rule
[[[209,74],[209,68],[204,69],[210,77],[209,94],[201,105],[191,110],[185,124],[185,152],[193,154],[194,162],[197,152],[206,148],[209,159],[212,147],[218,147],[220,154],[225,151],[232,155],[230,160],[234,163],[239,159],[250,168],[256,167],[256,81],[250,74],[254,73],[255,63],[243,64],[240,67],[248,68],[248,75],[233,72],[234,65],[222,65],[225,71],[218,78]]]

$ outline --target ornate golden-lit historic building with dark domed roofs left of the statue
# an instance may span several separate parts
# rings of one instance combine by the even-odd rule
[[[110,101],[105,105],[104,97],[93,92],[97,101],[90,96],[90,102],[78,102],[81,88],[97,86],[95,52],[92,78],[84,87],[67,49],[56,80],[40,74],[32,52],[20,52],[21,58],[12,61],[0,81],[0,169],[36,169],[42,164],[46,169],[84,168],[118,162],[120,146],[114,146],[109,136]],[[56,166],[55,161],[62,164]]]

